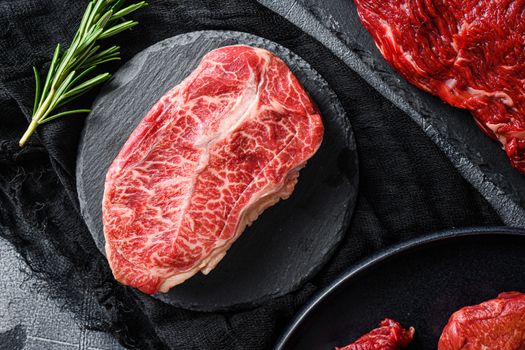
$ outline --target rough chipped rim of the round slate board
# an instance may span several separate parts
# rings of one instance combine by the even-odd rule
[[[311,73],[317,75],[319,77],[318,81],[320,83],[322,83],[323,85],[326,85],[327,89],[329,91],[331,91],[331,95],[333,95],[333,96],[330,96],[330,99],[335,100],[332,103],[332,105],[333,105],[332,108],[334,108],[336,110],[339,110],[339,112],[343,116],[343,118],[341,120],[343,121],[343,123],[345,125],[345,130],[348,131],[348,133],[347,133],[347,142],[348,142],[348,144],[347,145],[348,145],[349,149],[352,150],[352,151],[356,150],[356,141],[355,141],[355,137],[354,137],[354,134],[353,134],[352,125],[351,125],[348,117],[346,116],[346,112],[345,112],[344,108],[342,107],[342,105],[340,104],[340,101],[337,98],[337,95],[330,88],[329,84],[324,80],[324,78],[317,71],[315,71],[310,66],[310,64],[306,60],[304,60],[302,57],[300,57],[299,55],[297,55],[293,51],[289,50],[288,48],[286,48],[286,47],[284,47],[284,46],[282,46],[282,45],[280,45],[278,43],[275,43],[275,42],[273,42],[271,40],[268,40],[268,39],[262,38],[262,37],[257,37],[257,36],[255,36],[253,34],[250,34],[250,33],[238,32],[238,31],[227,31],[227,30],[194,31],[194,32],[179,34],[179,35],[176,35],[174,37],[170,37],[170,38],[164,39],[164,40],[162,40],[162,41],[160,41],[160,42],[158,42],[156,44],[153,44],[149,48],[146,48],[145,50],[137,53],[137,55],[135,56],[135,59],[138,58],[137,61],[144,60],[147,57],[148,53],[162,50],[164,45],[166,45],[167,43],[169,43],[172,40],[179,40],[182,43],[193,42],[196,37],[199,37],[201,35],[204,35],[204,36],[210,36],[211,35],[213,37],[214,35],[217,35],[217,33],[233,35],[233,37],[235,37],[235,38],[241,38],[241,42],[242,41],[249,41],[250,39],[253,40],[253,38],[258,38],[259,40],[262,40],[263,42],[266,43],[265,47],[272,47],[272,46],[273,47],[279,47],[282,50],[282,52],[280,52],[280,54],[281,55],[286,55],[287,56],[287,60],[289,60],[289,59],[291,59],[291,60],[298,60],[297,62],[300,63],[300,65],[297,65],[298,67],[300,67],[301,69],[308,69]],[[136,63],[135,60],[133,60],[133,62],[131,62],[131,60],[130,60],[126,64],[121,66],[120,69],[125,70],[125,69],[129,68],[128,66],[132,65],[133,63]],[[115,75],[118,77],[118,74],[115,74]],[[111,83],[111,80],[109,82],[107,82],[105,85],[108,85],[110,83]],[[79,147],[78,155],[80,155],[82,152],[84,152],[84,145],[85,145],[85,143],[83,142],[84,134],[85,134],[85,132],[83,131],[82,135],[81,135],[81,146]],[[352,188],[354,188],[354,192],[357,194],[357,191],[358,191],[358,188],[359,188],[359,161],[358,161],[358,158],[355,159],[355,167],[356,167],[355,168],[356,174],[355,174],[355,176],[352,179],[349,180],[349,185],[352,186]],[[92,221],[94,218],[92,218],[91,215],[89,214],[88,206],[82,205],[82,203],[85,203],[86,200],[87,200],[83,196],[83,193],[85,192],[84,191],[84,181],[82,180],[84,178],[83,166],[81,166],[80,162],[77,162],[77,167],[76,168],[77,168],[76,169],[76,174],[77,174],[77,191],[78,191],[78,196],[79,196],[79,200],[80,200],[80,203],[81,203],[81,206],[80,206],[81,207],[81,214],[84,216],[84,219],[86,221],[90,221],[90,220]],[[342,240],[342,238],[343,238],[343,236],[344,236],[344,234],[345,234],[345,232],[346,232],[346,230],[347,230],[347,228],[348,228],[348,226],[350,224],[350,221],[351,221],[351,218],[353,216],[354,209],[355,209],[355,205],[356,205],[355,197],[353,199],[348,200],[347,204],[348,204],[348,207],[347,207],[347,210],[345,211],[345,216],[344,216],[344,218],[342,220],[343,221],[342,227],[336,234],[336,236],[338,237],[338,242],[340,242]],[[88,225],[88,226],[90,226],[90,225]],[[105,247],[101,246],[96,240],[95,240],[95,243],[96,243],[97,247],[99,248],[99,250],[102,252],[102,254],[105,255]],[[323,261],[321,261],[319,264],[317,264],[315,266],[312,266],[310,268],[310,270],[308,270],[304,274],[303,278],[301,278],[300,280],[295,281],[295,283],[291,287],[291,291],[297,290],[309,278],[311,278],[316,273],[318,273],[326,265],[326,263],[329,261],[329,259],[332,257],[332,255],[335,253],[335,251],[337,250],[338,247],[339,247],[339,244],[332,245],[330,247],[330,249],[328,251],[326,251],[325,258],[323,259]],[[163,298],[162,296],[159,297],[159,295],[154,295],[153,297],[155,297],[157,299],[160,299],[160,300],[162,300],[162,301],[164,301],[166,303],[169,303],[171,305],[182,307],[182,308],[185,308],[185,309],[188,309],[188,310],[209,312],[209,311],[231,311],[231,310],[244,309],[244,308],[247,308],[247,307],[253,307],[255,305],[260,305],[260,304],[264,303],[267,300],[270,300],[272,298],[276,298],[276,297],[282,296],[284,294],[285,293],[283,293],[282,291],[277,291],[276,293],[266,295],[266,296],[264,296],[264,297],[262,297],[260,299],[256,299],[256,300],[253,300],[253,301],[250,301],[250,302],[238,303],[238,304],[235,304],[235,305],[232,305],[232,306],[209,307],[209,308],[206,308],[206,307],[203,308],[202,306],[199,306],[199,305],[178,304],[177,302],[174,302],[173,300],[169,300],[169,301],[165,300],[166,298]]]

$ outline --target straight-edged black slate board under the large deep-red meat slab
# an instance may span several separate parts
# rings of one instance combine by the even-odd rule
[[[412,86],[383,59],[362,26],[352,0],[258,0],[330,49],[406,112],[489,201],[505,224],[525,227],[525,176],[469,112]]]

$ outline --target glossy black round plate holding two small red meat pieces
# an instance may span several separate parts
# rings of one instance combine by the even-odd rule
[[[414,326],[409,349],[436,349],[449,316],[504,291],[525,292],[525,230],[447,231],[388,249],[318,294],[277,350],[333,350],[385,317]]]

